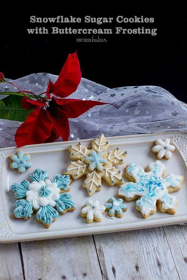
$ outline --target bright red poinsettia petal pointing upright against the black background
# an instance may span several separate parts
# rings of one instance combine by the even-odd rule
[[[49,80],[46,95],[50,99],[50,93],[55,96],[66,97],[77,90],[81,80],[81,71],[77,53],[69,54],[57,81],[53,84]]]

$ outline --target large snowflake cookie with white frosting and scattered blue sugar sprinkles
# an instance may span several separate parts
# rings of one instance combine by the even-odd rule
[[[165,166],[160,162],[151,162],[146,172],[141,166],[130,163],[125,176],[132,182],[125,183],[117,195],[127,201],[136,200],[136,209],[144,218],[156,212],[156,204],[161,212],[175,214],[176,198],[169,193],[181,188],[183,176],[170,173],[165,178]]]

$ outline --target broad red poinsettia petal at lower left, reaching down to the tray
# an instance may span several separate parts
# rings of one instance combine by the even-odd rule
[[[26,121],[17,129],[15,142],[17,147],[44,143],[50,137],[53,124],[46,110],[38,108],[31,112]]]

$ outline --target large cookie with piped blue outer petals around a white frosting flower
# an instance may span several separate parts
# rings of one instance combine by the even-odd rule
[[[28,220],[36,212],[37,222],[49,228],[58,212],[65,214],[76,209],[71,195],[64,192],[70,189],[70,176],[57,174],[52,182],[48,176],[47,170],[38,168],[30,176],[31,182],[23,180],[11,185],[17,199],[14,218]]]

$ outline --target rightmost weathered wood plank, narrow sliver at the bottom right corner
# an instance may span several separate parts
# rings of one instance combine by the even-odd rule
[[[187,226],[165,226],[165,236],[168,240],[180,279],[187,275]]]

